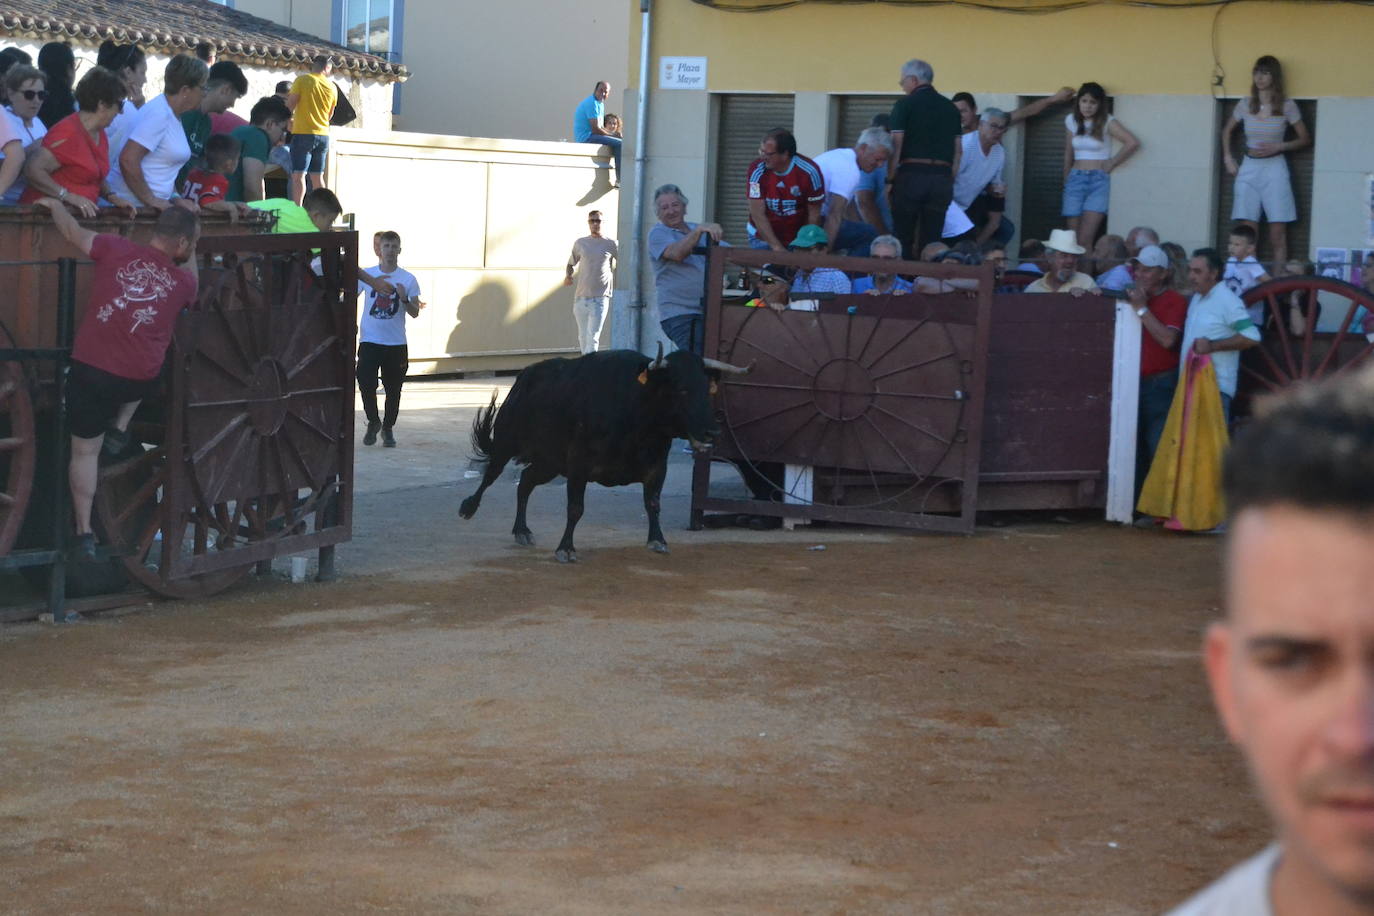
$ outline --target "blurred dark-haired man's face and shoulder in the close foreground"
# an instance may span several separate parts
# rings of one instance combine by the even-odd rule
[[[1374,913],[1374,368],[1250,422],[1226,504],[1204,659],[1278,842],[1173,916]]]

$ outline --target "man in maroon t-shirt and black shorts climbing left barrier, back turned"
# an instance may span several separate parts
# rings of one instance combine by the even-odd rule
[[[181,310],[199,286],[195,255],[201,220],[184,207],[158,217],[148,244],[98,235],[54,198],[36,201],[82,254],[95,261],[91,297],[77,328],[67,375],[67,424],[71,430],[71,508],[77,553],[95,558],[91,504],[95,501],[100,448],[106,434],[124,438],[133,411],[157,391],[158,374]]]

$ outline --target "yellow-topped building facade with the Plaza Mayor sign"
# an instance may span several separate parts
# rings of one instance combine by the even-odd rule
[[[989,8],[999,5],[1006,8]],[[1013,110],[1059,87],[1102,84],[1114,115],[1142,141],[1112,176],[1107,229],[1151,225],[1187,249],[1224,242],[1231,180],[1221,169],[1220,128],[1265,54],[1282,62],[1287,95],[1315,139],[1290,155],[1298,199],[1290,251],[1374,247],[1374,70],[1363,63],[1374,7],[1366,4],[668,0],[653,3],[650,15],[646,173],[642,187],[631,187],[629,174],[622,184],[622,249],[635,195],[644,203],[642,239],[654,222],[649,194],[669,181],[691,198],[688,220],[720,221],[738,243],[743,169],[763,133],[789,126],[809,155],[852,144],[874,111],[890,108],[911,58],[933,66],[940,92],[971,92],[980,107]],[[640,23],[636,4],[627,21],[636,52]],[[669,58],[688,58],[705,80],[669,88],[661,73]],[[627,163],[635,157],[638,70],[636,54],[625,102]],[[1061,225],[1066,110],[1007,133],[1007,210],[1021,238],[1043,239]],[[640,272],[640,304],[651,314],[647,276]],[[621,284],[622,301],[633,305],[629,272]],[[653,330],[657,321],[643,325]]]

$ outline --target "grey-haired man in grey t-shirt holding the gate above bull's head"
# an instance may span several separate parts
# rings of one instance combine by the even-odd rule
[[[654,213],[658,222],[649,231],[649,260],[654,266],[658,323],[679,350],[701,356],[706,336],[706,255],[697,246],[702,236],[720,242],[724,229],[716,222],[687,222],[687,196],[676,184],[654,190]]]

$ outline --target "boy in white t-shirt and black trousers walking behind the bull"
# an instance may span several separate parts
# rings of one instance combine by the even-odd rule
[[[365,293],[363,320],[359,323],[357,345],[357,390],[363,396],[363,413],[367,415],[367,433],[363,445],[375,445],[376,434],[382,434],[382,445],[396,448],[392,427],[401,411],[401,385],[405,383],[405,369],[409,368],[409,347],[405,343],[405,316],[419,317],[425,304],[420,302],[420,284],[415,275],[403,271],[397,264],[401,255],[401,236],[396,232],[378,232],[372,236],[372,249],[381,262],[375,268],[364,268],[370,277],[390,280],[396,293],[386,294],[371,288],[359,280],[357,291]],[[376,376],[381,372],[382,387],[386,389],[386,409],[376,415]]]

